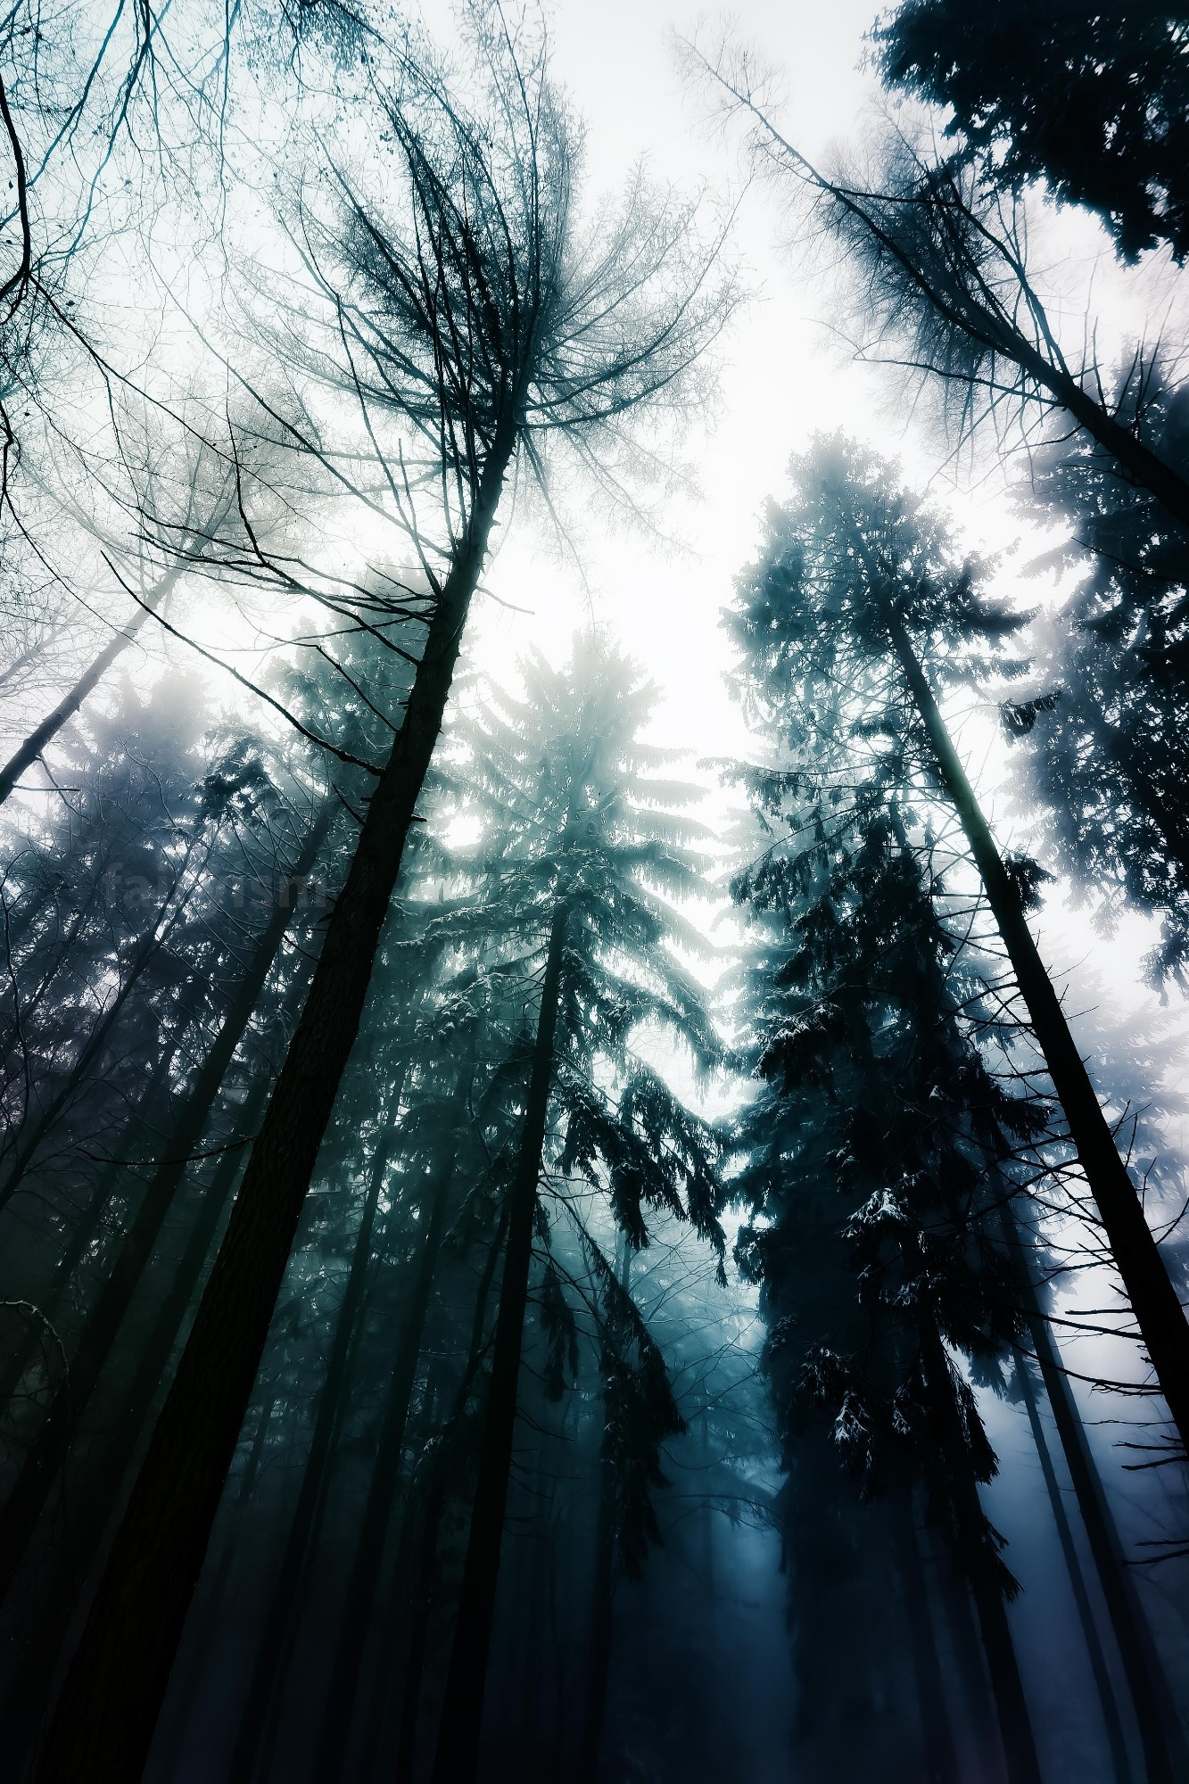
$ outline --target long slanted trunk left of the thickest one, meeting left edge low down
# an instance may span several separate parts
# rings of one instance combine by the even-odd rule
[[[323,806],[302,844],[296,874],[309,874],[318,851],[334,819],[330,801]],[[236,990],[234,1001],[204,1060],[195,1088],[191,1090],[182,1117],[166,1142],[173,1156],[157,1167],[154,1179],[145,1192],[132,1226],[123,1236],[120,1252],[112,1263],[107,1281],[100,1288],[91,1313],[82,1327],[79,1347],[59,1392],[54,1397],[45,1424],[36,1443],[25,1456],[16,1484],[0,1511],[0,1598],[9,1591],[21,1556],[29,1547],[45,1502],[66,1459],[70,1445],[79,1431],[79,1422],[95,1393],[104,1365],[111,1356],[120,1327],[132,1302],[132,1297],[145,1276],[161,1227],[173,1208],[173,1199],[186,1177],[189,1154],[198,1145],[214,1101],[220,1094],[230,1061],[243,1040],[261,1001],[264,981],[268,979],[293,910],[289,901],[279,903],[273,915],[255,944],[252,963]],[[205,1247],[202,1256],[205,1258]],[[200,1265],[202,1267],[202,1265]],[[184,1313],[184,1306],[182,1306]],[[180,1318],[180,1315],[179,1315]],[[152,1352],[152,1347],[150,1347]],[[154,1368],[154,1386],[159,1368],[155,1354],[146,1352],[146,1368]]]

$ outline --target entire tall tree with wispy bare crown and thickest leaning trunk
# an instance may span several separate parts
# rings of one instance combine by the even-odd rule
[[[437,562],[420,533],[425,642],[64,1686],[41,1763],[46,1780],[80,1768],[127,1773],[148,1747],[514,458],[523,450],[532,466],[537,437],[593,455],[600,428],[677,392],[725,316],[705,262],[687,271],[671,219],[636,209],[611,246],[578,246],[573,146],[545,59],[528,59],[509,36],[480,48],[486,118],[468,116],[432,64],[398,55],[382,75],[371,62],[391,132],[386,196],[391,205],[400,193],[405,211],[389,219],[350,186],[343,191],[339,243],[350,275],[336,287],[337,319],[364,417],[373,403],[391,405],[421,450],[427,441],[432,448],[427,469],[445,507]],[[361,373],[361,360],[370,369]],[[395,462],[389,489],[400,491],[396,473]]]

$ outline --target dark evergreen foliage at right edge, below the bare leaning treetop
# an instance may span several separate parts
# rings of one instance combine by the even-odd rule
[[[1189,464],[1189,403],[1130,366],[1116,409],[1173,466]],[[1025,514],[1066,528],[1041,566],[1077,587],[1032,628],[1032,689],[1003,706],[1019,746],[1019,801],[1048,858],[1098,906],[1160,919],[1153,978],[1189,956],[1189,710],[1184,703],[1189,546],[1146,491],[1085,437],[1037,451]]]

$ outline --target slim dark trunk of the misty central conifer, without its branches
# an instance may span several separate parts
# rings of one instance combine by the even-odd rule
[[[520,1142],[516,1177],[509,1195],[507,1249],[503,1252],[500,1313],[496,1317],[491,1358],[487,1422],[478,1456],[478,1481],[462,1568],[462,1590],[453,1625],[453,1645],[450,1648],[450,1670],[446,1673],[432,1784],[475,1784],[478,1768],[478,1736],[484,1714],[491,1620],[500,1575],[507,1483],[512,1468],[520,1350],[525,1334],[525,1306],[528,1302],[528,1272],[532,1267],[532,1229],[553,1076],[553,1040],[561,1001],[566,915],[566,904],[559,903],[550,924],[541,1015],[537,1019],[532,1078],[525,1103],[525,1127]]]

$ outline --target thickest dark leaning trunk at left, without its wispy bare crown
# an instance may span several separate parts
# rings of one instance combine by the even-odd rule
[[[368,995],[405,838],[441,731],[512,441],[489,460],[425,639],[318,967],[189,1343],[112,1545],[37,1784],[137,1777],[252,1395],[318,1149]]]

